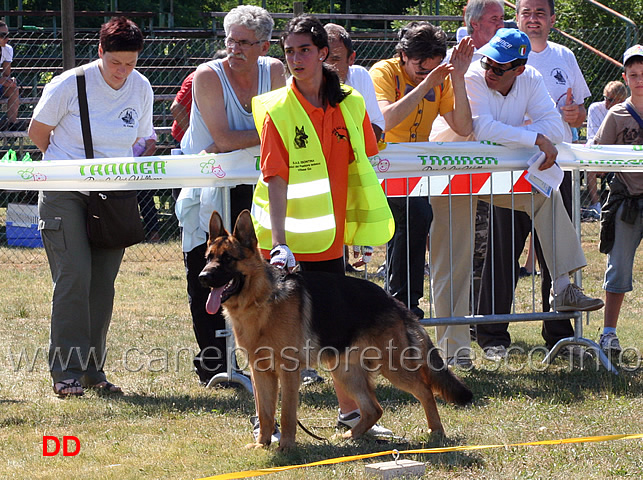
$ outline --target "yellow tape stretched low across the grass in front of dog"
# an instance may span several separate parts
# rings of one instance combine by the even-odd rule
[[[511,443],[508,445],[462,445],[459,447],[441,447],[441,448],[420,448],[416,450],[387,450],[385,452],[366,453],[363,455],[351,455],[347,457],[329,458],[318,462],[305,463],[303,465],[286,465],[284,467],[261,468],[259,470],[246,470],[244,472],[223,473],[212,477],[205,477],[199,480],[233,480],[238,478],[258,477],[269,473],[284,472],[286,470],[295,470],[297,468],[316,467],[319,465],[333,465],[336,463],[352,462],[365,458],[383,457],[385,455],[417,454],[417,453],[446,453],[446,452],[464,452],[470,450],[485,450],[489,448],[508,448],[508,447],[533,447],[539,445],[564,445],[569,443],[590,443],[590,442],[608,442],[612,440],[633,440],[643,438],[643,433],[632,435],[602,435],[595,437],[563,438],[558,440],[540,440],[538,442]]]

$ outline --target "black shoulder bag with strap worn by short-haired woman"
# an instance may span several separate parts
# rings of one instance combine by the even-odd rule
[[[75,72],[85,156],[94,158],[85,71],[78,67]],[[126,248],[142,242],[145,239],[145,230],[138,210],[136,190],[90,192],[87,205],[87,236],[89,242],[98,248]]]

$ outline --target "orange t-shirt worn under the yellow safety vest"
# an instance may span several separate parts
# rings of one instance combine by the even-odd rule
[[[295,258],[304,262],[333,260],[344,255],[348,164],[355,160],[355,155],[348,140],[346,122],[339,105],[336,107],[328,105],[326,110],[315,107],[299,92],[294,80],[290,88],[293,89],[297,100],[304,107],[319,137],[326,159],[335,222],[337,224],[335,240],[328,250],[320,253],[295,254]],[[366,154],[369,157],[377,155],[379,151],[377,140],[368,114],[364,116],[362,128],[364,129]],[[277,127],[275,127],[270,115],[266,115],[261,132],[261,173],[264,180],[270,182],[271,177],[279,176],[288,182],[288,159],[288,150],[286,150]],[[268,256],[269,252],[263,251],[263,254]]]

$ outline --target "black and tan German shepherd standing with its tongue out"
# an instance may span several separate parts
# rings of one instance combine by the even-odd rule
[[[201,283],[211,289],[206,309],[223,311],[248,355],[260,434],[268,446],[281,384],[280,450],[295,444],[301,368],[321,363],[336,385],[357,403],[355,438],[382,416],[373,380],[381,373],[411,393],[432,432],[443,433],[434,393],[459,405],[472,393],[446,366],[415,316],[378,285],[322,272],[286,274],[257,249],[250,213],[239,215],[234,233],[217,212],[210,218],[207,264]]]

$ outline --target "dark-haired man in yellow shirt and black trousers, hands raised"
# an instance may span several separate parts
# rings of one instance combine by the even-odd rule
[[[469,135],[472,120],[464,74],[473,55],[471,39],[454,48],[450,63],[441,64],[447,51],[447,37],[441,28],[411,22],[400,30],[398,38],[395,57],[377,62],[369,72],[386,123],[384,140],[426,142],[438,114],[456,133]],[[426,195],[408,198],[408,212],[406,199],[419,181],[403,178],[385,183],[395,218],[387,262],[391,294],[423,318],[419,301],[424,295],[426,239],[433,214]]]

